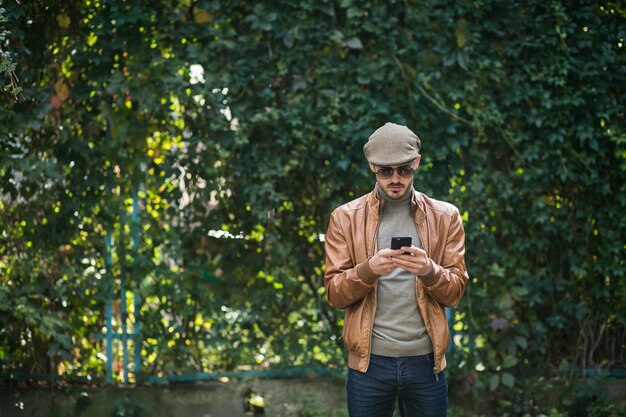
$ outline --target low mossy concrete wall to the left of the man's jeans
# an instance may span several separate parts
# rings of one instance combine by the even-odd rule
[[[345,382],[258,379],[121,387],[0,388],[0,417],[344,417]],[[263,398],[253,412],[246,398]],[[117,412],[117,414],[116,414]]]

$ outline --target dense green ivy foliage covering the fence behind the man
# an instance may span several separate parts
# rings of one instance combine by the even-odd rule
[[[387,121],[422,139],[416,188],[465,220],[451,393],[534,415],[551,377],[623,375],[619,2],[0,8],[3,375],[103,376],[123,280],[131,381],[342,370],[322,237],[371,189],[362,144]]]

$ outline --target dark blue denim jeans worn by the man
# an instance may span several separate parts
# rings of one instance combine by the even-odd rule
[[[390,358],[372,354],[366,372],[348,370],[350,417],[391,417],[398,400],[402,417],[445,417],[448,385],[433,373],[433,354]]]

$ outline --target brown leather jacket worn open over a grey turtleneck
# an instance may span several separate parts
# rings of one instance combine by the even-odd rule
[[[377,252],[383,203],[374,189],[338,207],[331,213],[326,233],[324,287],[330,305],[345,310],[343,339],[349,351],[348,366],[361,372],[369,366],[378,289],[377,279],[364,280],[363,275],[371,273],[367,261]],[[411,210],[423,248],[434,263],[427,276],[415,279],[416,301],[433,344],[435,370],[441,372],[450,344],[444,307],[461,300],[468,281],[465,231],[452,204],[415,191]]]

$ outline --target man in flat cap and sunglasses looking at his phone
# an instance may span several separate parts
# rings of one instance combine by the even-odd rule
[[[445,416],[450,332],[444,307],[468,281],[456,207],[413,189],[420,139],[387,123],[363,147],[375,189],[335,209],[326,233],[324,287],[345,310],[350,417]],[[392,237],[411,246],[390,249]]]

